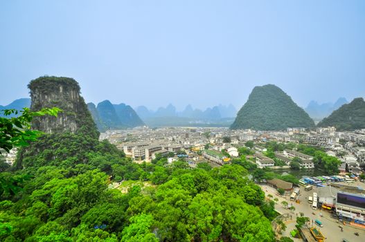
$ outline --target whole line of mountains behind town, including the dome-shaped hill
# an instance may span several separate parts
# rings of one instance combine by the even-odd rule
[[[350,104],[346,103],[347,100],[344,97],[340,97],[334,104],[331,102],[318,104],[311,101],[305,109],[308,113],[305,113],[289,95],[277,86],[268,84],[256,86],[249,95],[249,100],[238,113],[232,104],[228,106],[220,104],[204,111],[194,109],[191,104],[188,104],[183,111],[177,111],[172,104],[160,107],[157,111],[138,106],[134,111],[129,105],[112,104],[109,100],[105,100],[98,105],[90,102],[87,107],[99,131],[139,127],[145,124],[150,127],[229,127],[231,125],[232,129],[258,130],[314,127],[313,120],[308,114],[316,120],[329,115],[328,118],[319,122],[319,127],[335,126],[339,130],[364,129],[365,102],[362,97],[355,98]],[[0,110],[20,111],[24,107],[30,107],[30,98],[20,98],[6,106],[0,105]],[[0,117],[3,117],[1,112]]]

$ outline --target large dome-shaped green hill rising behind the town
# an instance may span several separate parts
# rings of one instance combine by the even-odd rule
[[[314,122],[292,97],[272,84],[255,86],[238,111],[231,129],[283,130],[314,127]]]

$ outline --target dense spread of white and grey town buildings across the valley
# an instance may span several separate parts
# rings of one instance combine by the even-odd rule
[[[224,137],[229,137],[231,142],[225,143]],[[254,131],[230,130],[224,127],[165,127],[150,129],[138,127],[118,131],[107,131],[100,135],[100,139],[107,138],[123,149],[126,156],[136,161],[150,161],[158,153],[179,153],[192,151],[200,153],[198,159],[207,159],[211,156],[202,153],[208,149],[221,152],[226,150],[234,158],[238,156],[238,147],[245,142],[255,142],[254,149],[265,153],[265,142],[303,142],[306,145],[322,147],[330,156],[336,156],[342,162],[341,171],[361,172],[365,167],[365,131],[338,132],[334,127],[306,130],[303,128],[290,128],[287,131]],[[295,150],[276,152],[275,159],[282,160],[285,165],[290,165],[293,158],[300,158],[300,166],[304,169],[314,168],[313,158]],[[257,158],[257,157],[256,157]],[[271,167],[271,160],[257,159],[260,167]]]

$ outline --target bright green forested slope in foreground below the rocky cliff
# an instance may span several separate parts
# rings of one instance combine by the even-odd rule
[[[274,202],[242,165],[139,165],[80,123],[0,174],[1,241],[274,241]]]

